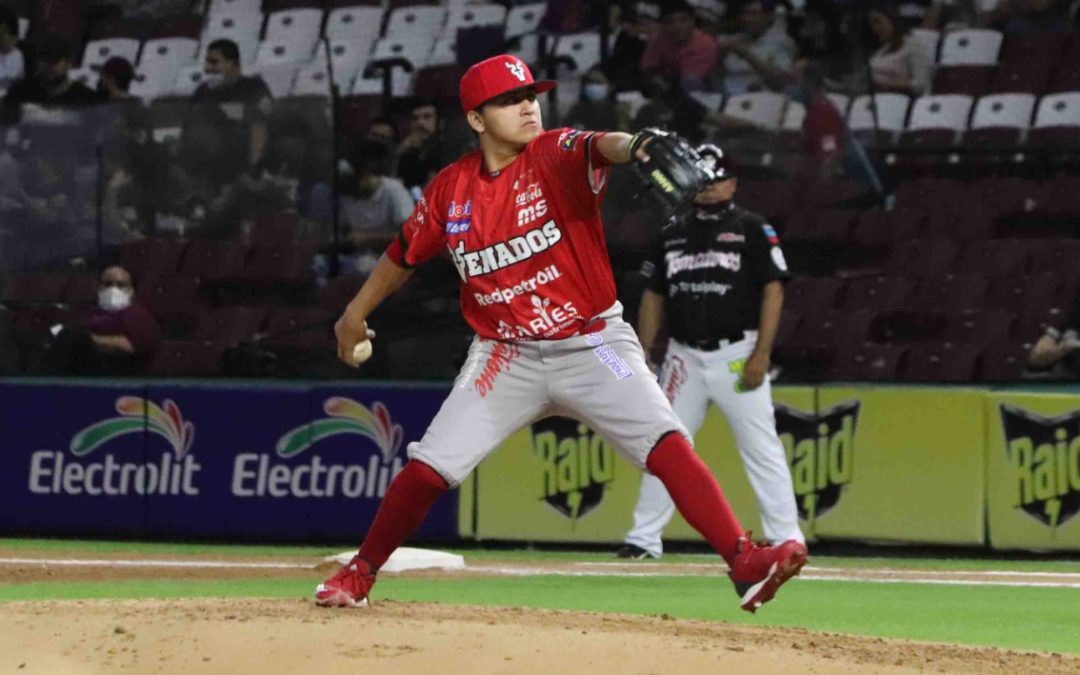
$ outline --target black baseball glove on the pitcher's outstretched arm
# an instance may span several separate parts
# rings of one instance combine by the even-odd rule
[[[648,156],[644,161],[637,157],[643,146]],[[645,129],[635,134],[630,156],[646,188],[652,188],[651,192],[669,212],[692,202],[714,178],[693,146],[660,129]]]

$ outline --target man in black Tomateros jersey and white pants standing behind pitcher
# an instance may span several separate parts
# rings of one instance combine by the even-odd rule
[[[638,335],[648,353],[666,315],[671,343],[660,386],[675,414],[694,435],[715,403],[734,434],[766,538],[804,542],[768,376],[787,264],[772,226],[732,201],[739,179],[730,158],[708,144],[698,153],[714,179],[691,213],[665,224],[657,255],[642,270],[648,287]],[[644,475],[634,527],[616,555],[660,557],[674,514],[663,484]]]

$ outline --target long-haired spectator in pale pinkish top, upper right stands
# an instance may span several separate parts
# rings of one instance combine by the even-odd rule
[[[874,90],[919,96],[930,86],[933,63],[900,21],[895,5],[881,4],[867,14],[879,48],[870,56]]]

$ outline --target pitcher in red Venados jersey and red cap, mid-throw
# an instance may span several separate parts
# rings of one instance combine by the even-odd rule
[[[656,141],[658,157],[678,157],[663,150],[681,141],[652,132],[545,132],[537,94],[553,86],[509,55],[465,72],[461,106],[480,149],[435,176],[335,326],[338,356],[356,365],[354,350],[369,339],[367,316],[414,268],[446,249],[476,337],[435,419],[409,444],[409,461],[360,551],[316,588],[320,605],[366,605],[379,568],[435,500],[510,434],[551,415],[586,422],[663,483],[727,561],[744,609],[771,599],[806,563],[799,541],[760,546],[744,535],[616,301],[599,217],[610,166],[650,165],[651,180],[678,193],[673,176],[692,170],[670,171],[648,150]],[[367,353],[361,347],[357,355]]]

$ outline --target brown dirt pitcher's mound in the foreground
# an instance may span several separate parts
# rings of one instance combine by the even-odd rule
[[[2,673],[1067,673],[1080,659],[663,617],[380,602],[0,604]]]

